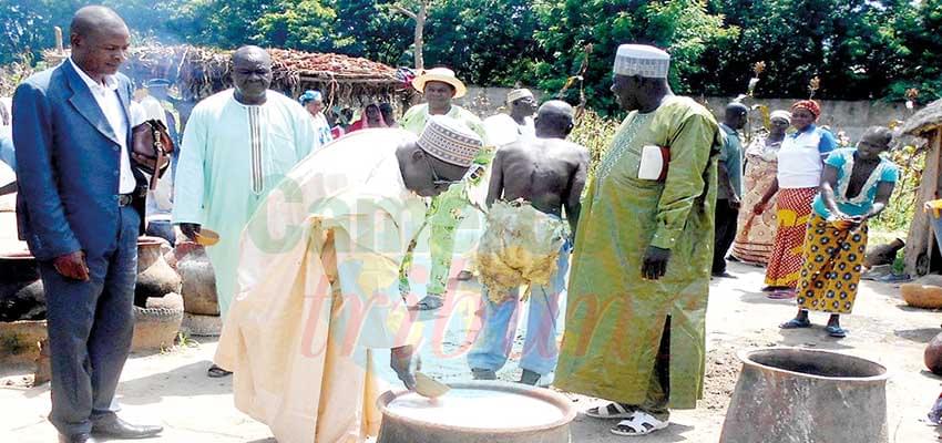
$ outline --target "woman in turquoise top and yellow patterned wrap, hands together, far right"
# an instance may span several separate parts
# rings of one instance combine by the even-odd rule
[[[830,312],[825,330],[841,338],[840,315],[850,313],[860,285],[867,249],[867,220],[890,200],[899,169],[880,154],[890,148],[892,133],[871,126],[857,148],[835,151],[825,162],[821,192],[812,204],[805,241],[805,265],[798,284],[798,316],[784,329],[808,328],[808,311]]]

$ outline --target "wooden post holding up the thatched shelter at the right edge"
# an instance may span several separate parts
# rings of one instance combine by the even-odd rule
[[[942,127],[933,130],[929,138],[929,152],[925,153],[925,168],[922,172],[922,181],[913,208],[912,225],[910,225],[905,248],[905,269],[909,275],[924,276],[932,269],[932,251],[934,235],[930,215],[922,210],[925,202],[935,199],[935,190],[939,187],[939,174],[942,172],[940,164],[940,150],[942,150]]]

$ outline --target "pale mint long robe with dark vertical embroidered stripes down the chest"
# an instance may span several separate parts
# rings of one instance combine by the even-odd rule
[[[198,223],[219,234],[206,254],[224,318],[235,293],[243,228],[268,192],[318,145],[310,114],[294,100],[268,91],[265,104],[248,106],[233,92],[194,107],[183,133],[173,207],[175,224]]]

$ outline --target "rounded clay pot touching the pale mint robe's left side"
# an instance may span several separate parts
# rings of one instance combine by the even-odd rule
[[[182,248],[183,246],[177,246]],[[177,262],[176,270],[183,280],[181,295],[183,309],[198,316],[218,316],[219,302],[216,298],[216,275],[203,247],[186,253]]]

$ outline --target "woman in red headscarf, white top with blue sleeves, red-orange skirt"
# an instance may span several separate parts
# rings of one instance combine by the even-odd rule
[[[778,151],[776,179],[752,208],[757,216],[765,213],[769,200],[776,202],[777,231],[775,246],[766,268],[765,291],[770,298],[792,298],[803,262],[805,229],[811,216],[811,202],[818,194],[825,158],[837,147],[835,136],[815,123],[821,107],[812,100],[791,105],[791,126]]]

